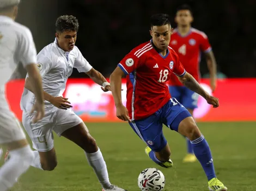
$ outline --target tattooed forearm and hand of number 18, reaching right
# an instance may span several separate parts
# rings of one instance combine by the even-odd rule
[[[208,104],[213,105],[214,107],[218,107],[220,104],[218,103],[218,98],[212,97],[211,95],[209,95],[209,93],[207,93],[202,86],[200,86],[200,84],[197,82],[196,79],[194,79],[192,77],[191,74],[189,73],[185,73],[185,75],[183,75],[182,77],[177,76],[180,80],[180,82],[186,86],[187,88],[189,88],[190,90],[192,90],[193,92],[198,93],[199,95],[201,95],[207,102]]]

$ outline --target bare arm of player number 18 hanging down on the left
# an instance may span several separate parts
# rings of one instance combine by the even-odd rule
[[[130,122],[131,120],[128,114],[128,110],[123,105],[121,97],[122,77],[124,76],[125,74],[121,68],[115,68],[114,72],[110,75],[110,84],[112,95],[114,97],[115,107],[117,107],[117,117],[121,120]]]

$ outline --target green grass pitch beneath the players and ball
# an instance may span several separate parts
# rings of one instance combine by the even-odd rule
[[[232,191],[256,190],[256,123],[199,123],[214,156],[218,178]],[[178,133],[164,128],[172,149],[174,167],[164,169],[144,154],[145,144],[128,124],[88,123],[96,139],[113,184],[139,190],[137,177],[149,167],[159,168],[166,177],[164,190],[208,190],[207,179],[199,162],[183,164],[185,141]],[[53,171],[31,167],[11,191],[101,190],[83,151],[65,138],[55,136],[58,166]]]

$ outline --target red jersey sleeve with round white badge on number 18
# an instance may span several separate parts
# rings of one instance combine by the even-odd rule
[[[135,69],[137,69],[141,65],[141,63],[141,56],[136,55],[136,53],[134,53],[134,51],[132,50],[123,58],[123,60],[119,62],[118,66],[125,73],[125,75],[127,75],[135,71]]]

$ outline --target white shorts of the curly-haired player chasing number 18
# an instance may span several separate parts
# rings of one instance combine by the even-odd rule
[[[40,152],[50,151],[54,147],[52,131],[61,136],[64,131],[83,122],[71,109],[54,110],[34,124],[33,117],[23,111],[22,124],[33,142],[33,148]]]

